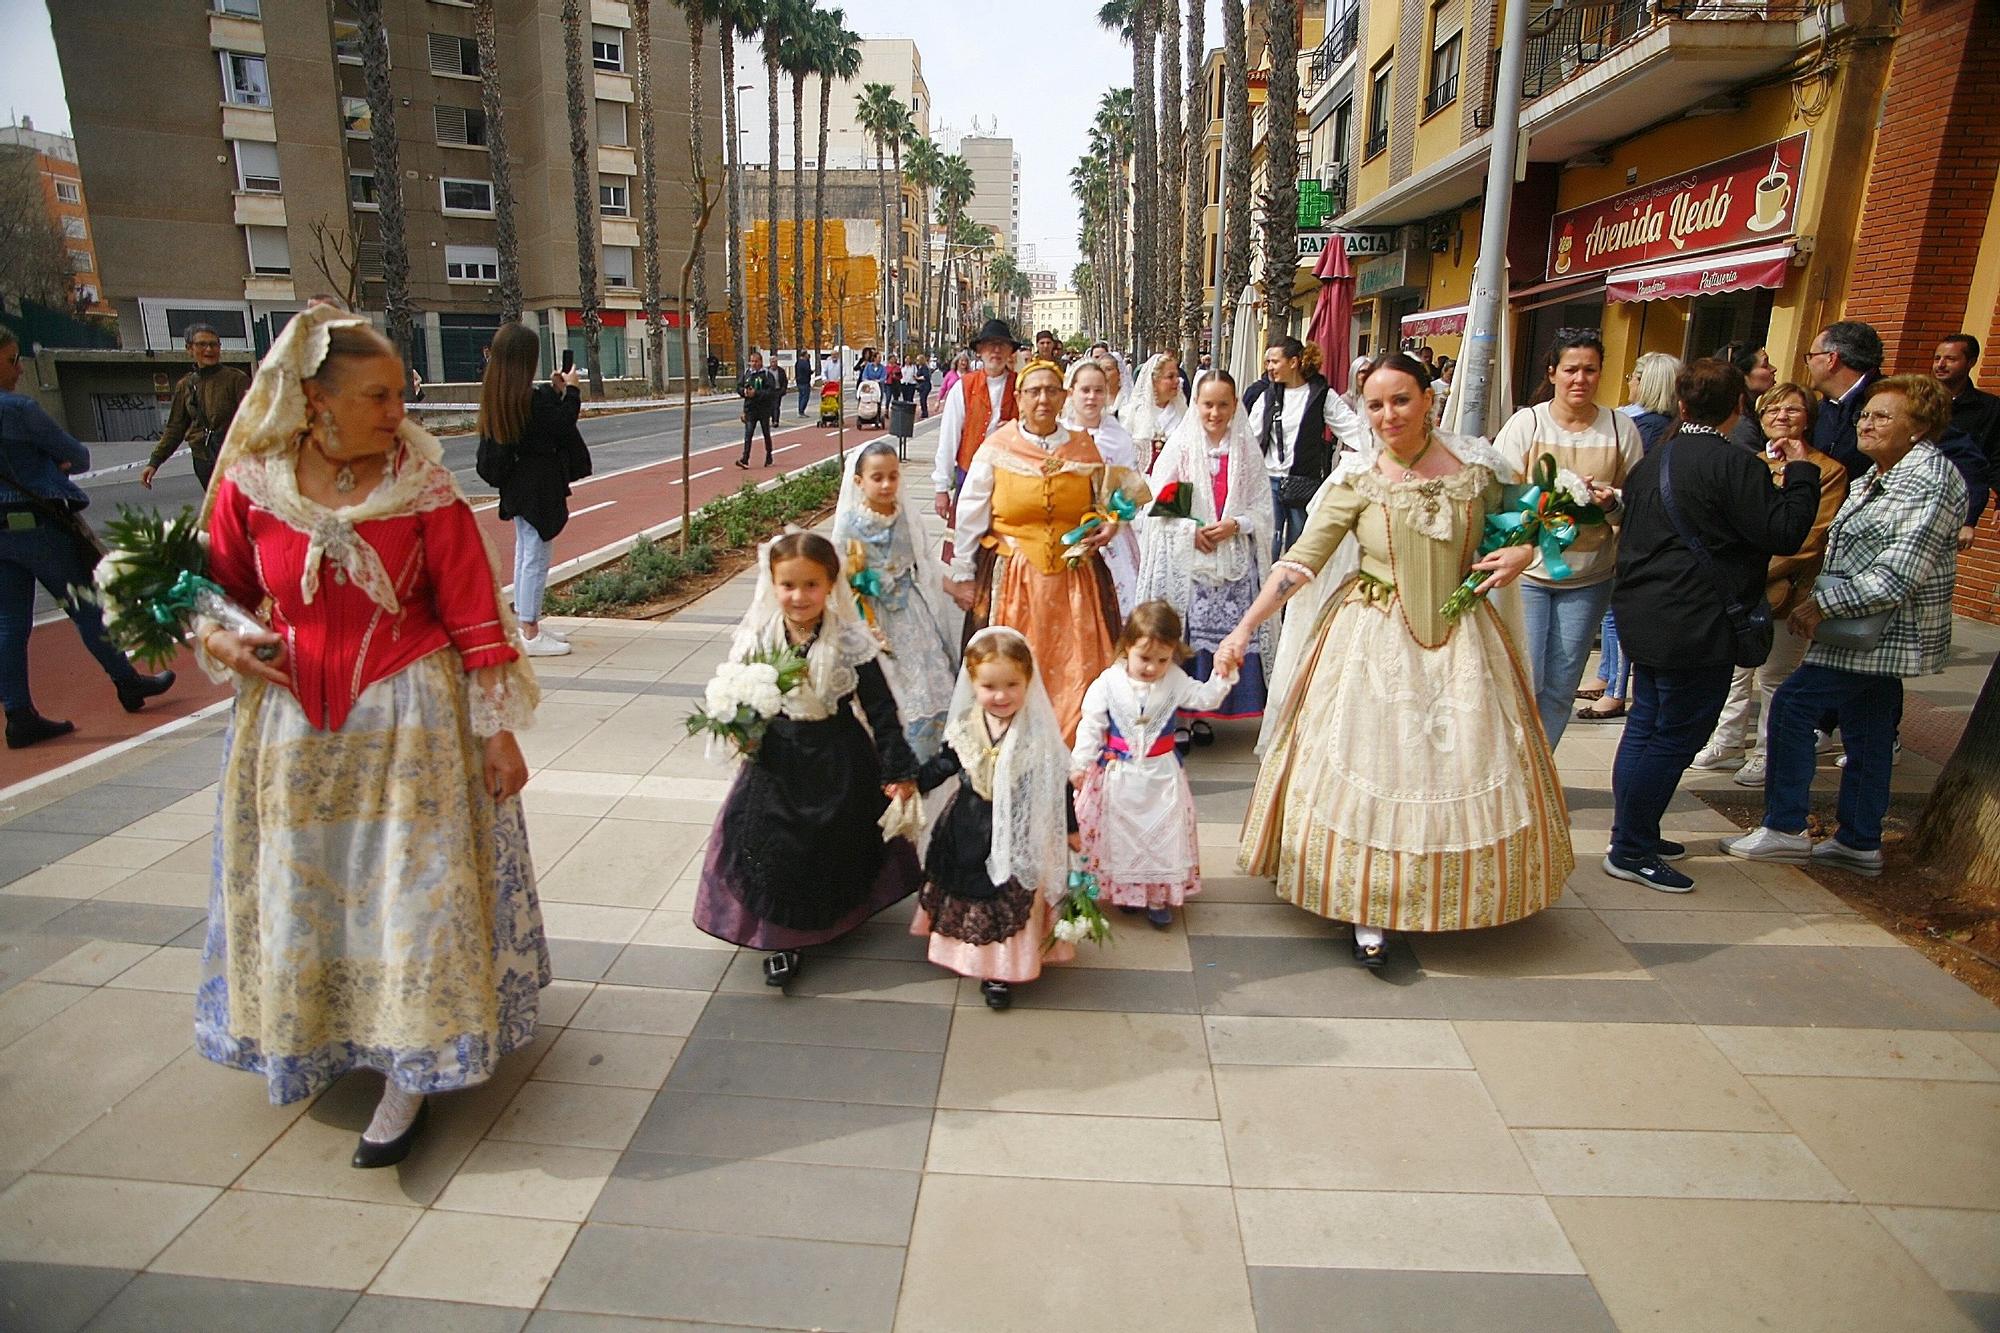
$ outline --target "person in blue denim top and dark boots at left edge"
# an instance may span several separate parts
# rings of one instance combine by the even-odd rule
[[[72,588],[90,586],[96,538],[80,510],[90,504],[70,472],[90,468],[90,450],[70,438],[34,398],[16,394],[20,342],[0,328],[0,703],[6,747],[66,737],[74,723],[42,717],[28,695],[28,634],[34,630],[34,584],[62,602],[90,656],[118,687],[118,703],[138,713],[174,685],[174,673],[140,675],[104,636],[104,612]]]

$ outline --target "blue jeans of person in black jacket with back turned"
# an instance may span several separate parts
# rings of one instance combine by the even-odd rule
[[[1612,761],[1612,857],[1650,857],[1660,845],[1660,817],[1680,775],[1702,753],[1730,697],[1728,662],[1656,671],[1632,662],[1626,733]],[[1808,733],[1806,749],[1812,749]]]

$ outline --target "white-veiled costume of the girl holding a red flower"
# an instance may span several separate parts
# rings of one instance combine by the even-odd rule
[[[1200,412],[1188,412],[1152,466],[1152,492],[1178,482],[1194,492],[1192,518],[1140,520],[1138,600],[1164,600],[1188,626],[1196,681],[1214,669],[1216,648],[1264,586],[1270,572],[1270,478],[1264,450],[1242,404],[1220,440],[1210,440]],[[1214,550],[1194,544],[1198,528],[1236,520],[1236,534]],[[1274,658],[1276,624],[1258,626],[1236,687],[1196,717],[1254,719],[1264,715],[1264,664]]]

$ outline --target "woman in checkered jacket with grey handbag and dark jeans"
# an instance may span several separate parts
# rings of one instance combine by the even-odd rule
[[[1764,827],[1724,839],[1728,855],[1882,873],[1902,681],[1944,671],[1952,652],[1966,482],[1932,442],[1950,422],[1952,404],[1928,374],[1894,374],[1868,388],[1854,442],[1874,466],[1848,486],[1812,596],[1788,618],[1812,646],[1770,701]],[[1814,845],[1806,833],[1812,733],[1826,713],[1840,721],[1846,767],[1840,831]]]

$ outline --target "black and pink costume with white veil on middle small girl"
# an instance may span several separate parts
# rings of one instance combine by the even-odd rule
[[[986,628],[974,642],[990,634],[1020,638]],[[958,791],[932,825],[910,933],[928,933],[930,961],[960,977],[1034,981],[1044,963],[1076,957],[1076,947],[1060,941],[1044,953],[1050,907],[1068,893],[1074,815],[1064,783],[1068,751],[1040,675],[1036,660],[1020,711],[996,737],[960,671],[946,745],[918,775],[924,791],[954,777]]]

